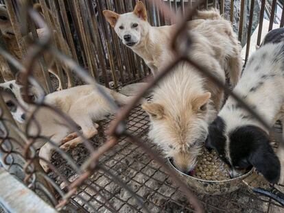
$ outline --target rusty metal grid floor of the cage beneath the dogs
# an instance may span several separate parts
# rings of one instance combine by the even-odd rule
[[[100,123],[99,134],[93,138],[95,147],[106,141],[104,130],[109,121],[110,118]],[[149,142],[152,149],[156,149],[147,140],[148,128],[149,118],[137,106],[128,118],[128,130]],[[88,151],[82,145],[69,151],[69,154],[78,164],[82,164],[88,157]],[[104,154],[100,162],[109,172],[127,184],[150,212],[193,212],[177,184],[171,181],[163,168],[137,145],[124,139],[120,140],[111,151]],[[69,177],[70,181],[78,177],[57,153],[53,156],[53,163],[60,172]],[[49,175],[60,184],[59,177],[53,173]],[[284,212],[284,208],[282,209],[278,204],[268,198],[251,194],[245,187],[228,195],[197,194],[197,196],[206,212]],[[77,195],[72,197],[71,203],[77,205],[82,212],[145,212],[125,188],[119,186],[109,174],[100,170],[85,181]]]

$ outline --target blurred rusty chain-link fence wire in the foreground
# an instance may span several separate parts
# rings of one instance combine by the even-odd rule
[[[189,47],[187,49],[190,49],[191,43],[194,42],[194,40],[191,40],[190,38],[190,29],[186,26],[187,20],[190,20],[193,17],[198,6],[202,4],[203,1],[200,1],[198,4],[193,6],[193,8],[189,8],[188,10],[185,9],[186,13],[184,18],[173,14],[173,12],[169,10],[167,5],[165,5],[163,1],[155,0],[154,2],[156,3],[158,8],[161,8],[161,11],[163,12],[164,16],[171,17],[171,20],[174,21],[174,23],[177,23],[176,32],[173,33],[173,38],[171,40],[171,51],[174,51],[174,55],[176,56],[172,58],[169,64],[161,68],[161,71],[159,71],[158,75],[156,75],[150,82],[148,82],[147,86],[145,86],[145,88],[143,88],[143,90],[141,90],[139,94],[123,108],[119,108],[119,106],[112,99],[110,99],[110,97],[104,92],[104,90],[97,86],[98,82],[96,82],[96,80],[84,68],[82,68],[78,64],[78,62],[71,59],[69,56],[64,55],[64,53],[61,53],[60,51],[58,51],[58,49],[54,48],[51,45],[52,36],[50,30],[47,32],[47,36],[45,36],[44,40],[34,40],[34,42],[29,45],[24,64],[21,64],[19,60],[10,55],[10,53],[5,51],[3,48],[0,48],[0,53],[2,57],[5,58],[8,62],[10,62],[10,64],[12,64],[14,67],[21,70],[21,73],[23,73],[22,81],[24,94],[26,95],[26,97],[28,96],[29,92],[29,84],[39,86],[34,77],[32,77],[32,67],[34,66],[34,63],[38,60],[39,55],[41,55],[41,53],[49,52],[54,55],[58,61],[67,64],[67,66],[69,66],[73,73],[83,79],[84,82],[95,86],[95,90],[98,90],[102,97],[106,99],[108,104],[117,112],[115,119],[110,123],[110,126],[106,131],[108,135],[108,140],[106,140],[106,142],[104,142],[102,146],[95,149],[91,144],[90,140],[84,138],[84,146],[86,147],[86,149],[88,149],[90,156],[81,166],[78,166],[75,160],[73,160],[71,156],[68,155],[66,152],[62,151],[58,147],[58,145],[49,140],[49,138],[45,138],[44,136],[40,135],[40,125],[36,123],[36,120],[34,119],[34,114],[36,114],[40,108],[48,108],[49,110],[52,110],[54,114],[56,114],[58,117],[61,117],[64,121],[66,121],[69,127],[73,129],[73,131],[76,132],[78,136],[83,137],[82,133],[78,131],[76,124],[71,120],[71,118],[69,118],[67,115],[62,114],[62,112],[59,112],[51,105],[47,105],[46,103],[44,103],[44,97],[42,97],[36,102],[26,99],[27,103],[36,106],[36,108],[34,109],[33,116],[27,122],[25,131],[21,131],[18,127],[16,127],[15,123],[11,122],[11,116],[5,113],[8,110],[5,107],[5,103],[3,103],[3,99],[0,99],[0,151],[1,153],[3,153],[3,162],[5,163],[6,168],[8,170],[11,170],[11,168],[14,166],[19,167],[23,174],[25,174],[24,177],[22,177],[23,181],[25,181],[25,184],[27,184],[29,188],[32,188],[34,190],[42,190],[44,194],[47,195],[49,201],[58,210],[63,208],[64,205],[67,205],[69,199],[78,192],[80,186],[82,186],[91,175],[93,175],[99,170],[102,170],[105,173],[108,173],[108,175],[110,175],[113,180],[122,188],[125,188],[128,192],[130,192],[132,197],[136,199],[137,203],[141,205],[141,208],[143,208],[145,212],[150,212],[150,210],[148,210],[145,206],[145,203],[143,203],[143,201],[141,201],[141,199],[137,197],[135,192],[133,192],[130,187],[128,187],[126,184],[123,184],[123,181],[117,175],[108,171],[108,169],[104,168],[102,164],[99,164],[99,158],[104,153],[112,149],[115,145],[117,145],[117,142],[120,138],[126,137],[130,142],[137,144],[139,147],[141,147],[141,149],[143,149],[143,151],[145,151],[147,155],[150,155],[153,160],[155,160],[165,168],[165,171],[180,186],[182,192],[187,195],[187,198],[191,203],[192,208],[196,212],[204,212],[204,207],[202,206],[200,201],[198,201],[194,193],[191,192],[189,187],[183,181],[181,181],[180,177],[178,177],[178,175],[173,170],[171,170],[171,168],[169,168],[167,164],[165,164],[163,158],[161,158],[159,154],[156,153],[156,151],[151,149],[149,145],[145,143],[145,141],[143,141],[138,136],[134,136],[126,129],[126,118],[128,118],[132,108],[134,108],[134,106],[139,103],[139,100],[143,97],[143,95],[146,94],[148,90],[150,90],[158,82],[163,80],[163,78],[168,75],[172,71],[172,69],[180,62],[187,62],[191,64],[191,66],[194,66],[203,75],[211,79],[211,81],[214,82],[217,86],[222,87],[228,95],[231,95],[236,101],[238,101],[246,110],[248,110],[248,112],[250,112],[250,114],[252,114],[252,116],[255,116],[255,118],[257,118],[260,123],[262,123],[268,129],[271,129],[270,125],[268,125],[265,119],[259,116],[259,114],[255,112],[255,110],[252,110],[249,105],[239,97],[239,95],[235,94],[232,90],[230,90],[230,88],[222,84],[220,79],[217,79],[216,77],[211,75],[210,71],[206,70],[206,68],[204,68],[202,64],[198,64],[197,62],[193,61],[189,54],[181,52],[179,50],[178,43],[180,42],[178,41],[178,38],[181,38],[181,36],[182,38],[186,38],[188,40],[187,44],[189,45]],[[26,12],[21,12],[21,14],[23,15],[23,17],[21,18],[23,18],[23,20],[29,20],[29,18],[31,18],[32,21],[37,25],[46,26],[45,21],[43,21],[43,18],[38,14],[38,12],[36,12],[32,8],[32,6],[29,4],[29,1],[24,1],[24,3],[25,6],[23,6],[23,9],[25,9]],[[29,32],[27,22],[22,27],[23,32]],[[18,34],[20,34],[20,32],[18,32]],[[14,99],[14,101],[16,100]],[[38,130],[36,135],[29,134],[29,127],[31,123],[36,123],[37,125]],[[13,138],[12,136],[17,137]],[[56,175],[58,175],[61,181],[65,184],[63,190],[56,184],[53,179],[51,179],[51,177],[45,174],[43,170],[40,170],[40,166],[38,164],[39,157],[33,147],[34,142],[38,138],[45,140],[45,142],[52,145],[54,149],[62,156],[62,158],[67,160],[71,168],[73,168],[73,170],[78,174],[78,177],[74,181],[69,181],[66,177],[64,177],[62,173],[60,173],[60,171],[58,171],[56,166],[51,164],[51,162],[48,162],[45,159],[41,159],[47,162],[47,164],[51,168],[51,171],[56,173]],[[53,190],[56,191],[59,197],[54,196],[55,193]],[[95,187],[93,187],[93,190],[97,194],[99,194],[99,191],[97,191]],[[108,208],[115,211],[115,208],[111,203],[109,203],[108,199],[106,199],[104,195],[100,196],[106,202]],[[78,197],[80,197],[80,195],[78,195]],[[80,198],[84,201],[84,197]],[[86,201],[86,203],[88,202]]]

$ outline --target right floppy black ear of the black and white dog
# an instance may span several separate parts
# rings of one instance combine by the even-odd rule
[[[270,183],[276,184],[280,178],[281,166],[279,159],[274,153],[272,147],[269,145],[268,138],[263,138],[261,146],[251,151],[249,162],[259,173],[265,177]]]

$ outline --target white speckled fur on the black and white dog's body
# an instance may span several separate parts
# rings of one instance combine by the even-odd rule
[[[283,104],[284,104],[284,54],[282,44],[268,44],[259,48],[252,54],[244,73],[239,80],[239,84],[234,89],[234,92],[244,98],[258,114],[272,127],[274,123],[283,119]],[[263,79],[263,75],[270,76],[268,79]],[[252,87],[259,85],[259,88],[254,92],[250,91]],[[228,101],[219,113],[224,123],[226,123],[225,134],[228,135],[238,127],[245,125],[255,125],[263,129],[269,134],[259,121],[255,118],[242,119],[242,116],[250,115],[244,108],[231,108],[231,105],[237,104],[236,101],[229,97]],[[226,157],[230,160],[229,150],[230,142],[226,141]],[[281,177],[280,182],[284,182],[284,151],[280,147],[277,156],[281,162]]]

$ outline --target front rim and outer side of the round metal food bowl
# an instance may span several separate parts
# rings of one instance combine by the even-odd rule
[[[169,165],[182,177],[182,180],[187,183],[187,185],[194,191],[206,194],[206,195],[224,195],[226,193],[233,192],[244,186],[243,180],[252,174],[254,168],[252,168],[248,173],[235,177],[233,179],[226,179],[222,181],[211,181],[205,179],[199,179],[192,177],[181,171],[178,171],[176,166],[174,166],[170,159],[167,158]]]

